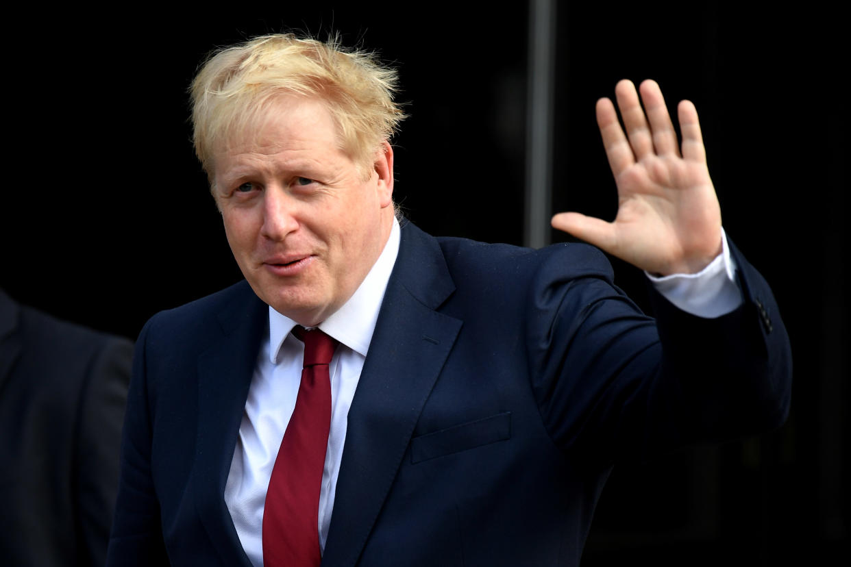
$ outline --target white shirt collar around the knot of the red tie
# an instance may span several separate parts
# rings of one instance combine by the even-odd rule
[[[399,222],[393,218],[390,238],[361,285],[340,309],[319,324],[319,328],[328,336],[363,356],[367,355],[369,343],[372,342],[387,282],[390,281],[399,254],[400,239]],[[273,365],[277,364],[278,351],[283,341],[296,325],[298,323],[294,320],[269,307],[269,360]]]

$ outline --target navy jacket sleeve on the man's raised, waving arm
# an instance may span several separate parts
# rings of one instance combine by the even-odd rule
[[[530,289],[528,360],[551,438],[595,462],[647,459],[779,427],[791,351],[768,284],[731,245],[744,303],[716,319],[651,290],[657,320],[614,286],[603,254],[552,252]]]

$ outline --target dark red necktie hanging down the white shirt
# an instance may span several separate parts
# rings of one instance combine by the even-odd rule
[[[331,428],[328,364],[337,341],[319,329],[297,326],[293,333],[305,343],[305,363],[293,416],[266,490],[264,567],[318,566],[322,561],[319,492]]]

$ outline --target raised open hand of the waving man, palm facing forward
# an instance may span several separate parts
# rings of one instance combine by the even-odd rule
[[[614,88],[624,130],[609,99],[597,101],[597,124],[618,187],[614,222],[580,213],[559,213],[552,226],[602,248],[648,272],[690,274],[705,268],[722,250],[721,209],[706,168],[706,154],[694,105],[677,107],[677,133],[654,81]]]

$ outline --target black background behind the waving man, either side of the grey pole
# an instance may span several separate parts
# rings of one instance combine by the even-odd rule
[[[0,285],[135,337],[157,310],[237,281],[186,88],[211,48],[287,29],[339,31],[399,69],[410,117],[394,144],[396,199],[408,218],[520,244],[528,3],[313,4],[10,19]],[[692,99],[724,226],[772,283],[795,363],[780,430],[616,468],[585,565],[848,559],[848,47],[839,14],[777,10],[558,4],[554,210],[614,218],[593,108],[615,82],[653,77],[669,106]],[[643,276],[614,266],[646,307]]]

